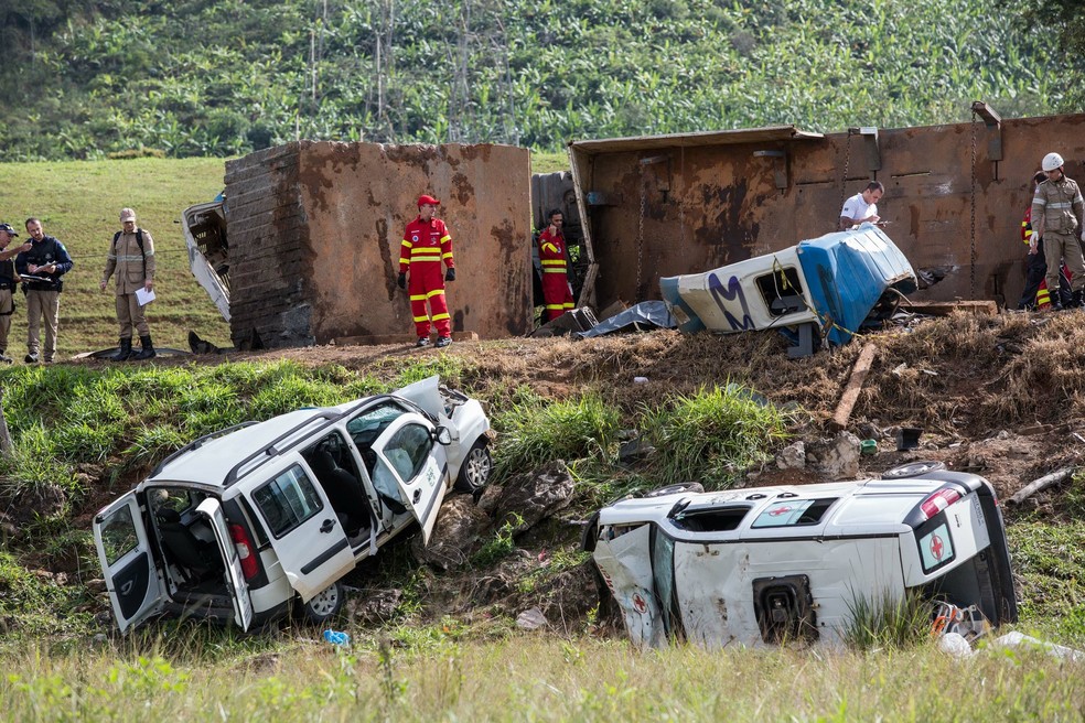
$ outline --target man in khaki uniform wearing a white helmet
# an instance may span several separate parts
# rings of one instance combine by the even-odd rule
[[[1048,257],[1048,289],[1059,288],[1059,262],[1064,260],[1071,273],[1074,292],[1071,307],[1082,306],[1082,289],[1085,287],[1085,256],[1081,240],[1085,240],[1085,199],[1081,188],[1063,173],[1063,158],[1048,153],[1041,163],[1048,180],[1036,186],[1032,197],[1032,230],[1043,239],[1043,252]],[[1063,307],[1059,294],[1052,294],[1051,307]]]

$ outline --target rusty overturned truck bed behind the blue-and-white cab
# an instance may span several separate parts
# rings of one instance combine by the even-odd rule
[[[1067,115],[1001,119],[998,144],[982,122],[578,141],[570,145],[577,201],[600,268],[593,302],[658,298],[660,276],[733,263],[835,230],[844,199],[875,180],[885,185],[878,204],[885,231],[913,267],[949,269],[917,299],[975,293],[1016,305],[1024,285],[1020,224],[1031,176],[1044,153],[1057,150],[1067,175],[1085,182],[1083,131],[1085,115]],[[999,158],[989,155],[991,148]]]

